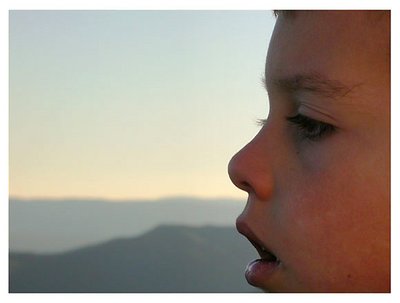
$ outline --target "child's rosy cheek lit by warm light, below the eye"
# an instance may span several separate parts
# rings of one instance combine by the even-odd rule
[[[385,186],[361,153],[358,158],[332,150],[324,155],[314,158],[313,169],[301,170],[302,177],[293,176],[282,193],[286,203],[277,212],[289,247],[288,268],[293,266],[299,283],[319,290],[376,287],[371,272],[382,272],[380,258],[389,262]]]

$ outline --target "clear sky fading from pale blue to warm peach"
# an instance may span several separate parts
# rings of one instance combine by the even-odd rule
[[[11,11],[10,196],[245,197],[270,11]]]

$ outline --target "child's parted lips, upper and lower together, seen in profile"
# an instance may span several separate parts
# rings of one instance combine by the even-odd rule
[[[236,229],[249,240],[261,257],[247,265],[245,271],[247,282],[256,287],[265,286],[265,283],[280,269],[281,260],[256,236],[245,221],[238,218]]]

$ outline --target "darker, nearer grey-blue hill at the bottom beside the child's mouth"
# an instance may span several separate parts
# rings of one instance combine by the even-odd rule
[[[160,226],[67,253],[10,253],[10,292],[257,292],[256,251],[228,227]]]

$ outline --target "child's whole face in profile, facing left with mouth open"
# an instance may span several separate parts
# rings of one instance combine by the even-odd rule
[[[261,252],[250,284],[390,291],[389,39],[387,14],[279,16],[265,69],[268,119],[229,164],[248,192],[238,230],[279,259]]]

